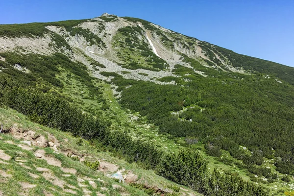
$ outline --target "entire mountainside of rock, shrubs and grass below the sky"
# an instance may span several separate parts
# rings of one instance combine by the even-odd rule
[[[0,194],[290,193],[293,76],[137,18],[0,25]]]

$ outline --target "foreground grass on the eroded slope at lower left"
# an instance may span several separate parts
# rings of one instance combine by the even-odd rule
[[[118,165],[119,168],[124,168],[127,171],[134,172],[139,176],[139,179],[143,180],[144,178],[144,182],[147,182],[147,184],[151,187],[183,187],[156,175],[153,171],[140,169],[135,163],[128,164],[124,160],[113,157],[109,152],[90,145],[89,142],[87,142],[86,140],[83,140],[82,144],[79,145],[76,142],[78,139],[73,137],[70,133],[32,123],[28,121],[24,115],[17,113],[14,110],[0,108],[0,122],[4,124],[5,130],[12,126],[17,126],[22,128],[23,130],[36,131],[38,134],[41,135],[52,134],[61,144],[60,149],[71,149],[74,153],[77,154],[85,153],[86,155],[92,157],[91,161],[103,159],[104,161],[107,161],[109,163],[115,163],[116,165]],[[66,142],[67,140],[68,142]],[[125,189],[123,191],[124,193],[129,193],[130,195],[134,196],[147,195],[141,189],[134,188],[127,184],[118,183],[111,178],[105,177],[101,172],[93,171],[93,169],[85,166],[84,164],[82,164],[82,162],[74,161],[73,159],[63,155],[62,153],[54,153],[54,151],[49,147],[45,148],[46,155],[52,156],[61,161],[62,167],[73,168],[77,171],[76,174],[72,174],[70,177],[63,176],[66,173],[63,172],[59,167],[49,165],[45,160],[35,158],[33,154],[34,151],[41,148],[34,147],[33,150],[24,150],[21,147],[16,146],[20,144],[20,140],[15,139],[10,134],[2,134],[1,141],[2,142],[0,142],[0,149],[4,150],[6,154],[12,157],[9,161],[6,161],[8,164],[0,164],[0,168],[2,171],[7,171],[6,173],[12,175],[12,177],[9,179],[0,176],[0,179],[4,181],[4,183],[0,183],[0,190],[7,196],[15,196],[19,194],[19,189],[21,189],[20,182],[27,182],[37,185],[36,187],[29,190],[29,194],[33,196],[42,196],[43,192],[45,191],[50,192],[53,195],[59,195],[61,192],[63,192],[63,188],[54,185],[52,182],[42,177],[42,172],[37,171],[37,167],[49,169],[52,175],[55,176],[55,178],[64,181],[64,189],[72,186],[75,187],[75,189],[71,189],[75,190],[77,192],[77,195],[83,195],[82,189],[78,185],[77,178],[90,178],[92,181],[96,182],[96,189],[89,186],[89,180],[85,180],[85,182],[83,182],[83,184],[88,185],[88,189],[92,191],[93,194],[96,192],[100,192],[108,196],[122,194],[121,190],[112,188],[113,184],[119,184]],[[14,144],[6,143],[7,141],[12,141]],[[16,159],[27,161],[23,164],[25,165],[25,167],[29,167],[30,169],[24,168],[24,166],[19,164],[19,162],[15,161]],[[33,178],[29,176],[28,172],[38,175],[40,177]],[[104,182],[101,183],[98,178],[103,180]],[[8,186],[10,183],[14,183],[16,186]],[[102,187],[106,187],[107,191],[103,191],[101,189]],[[191,190],[189,190],[189,192],[194,193]]]

